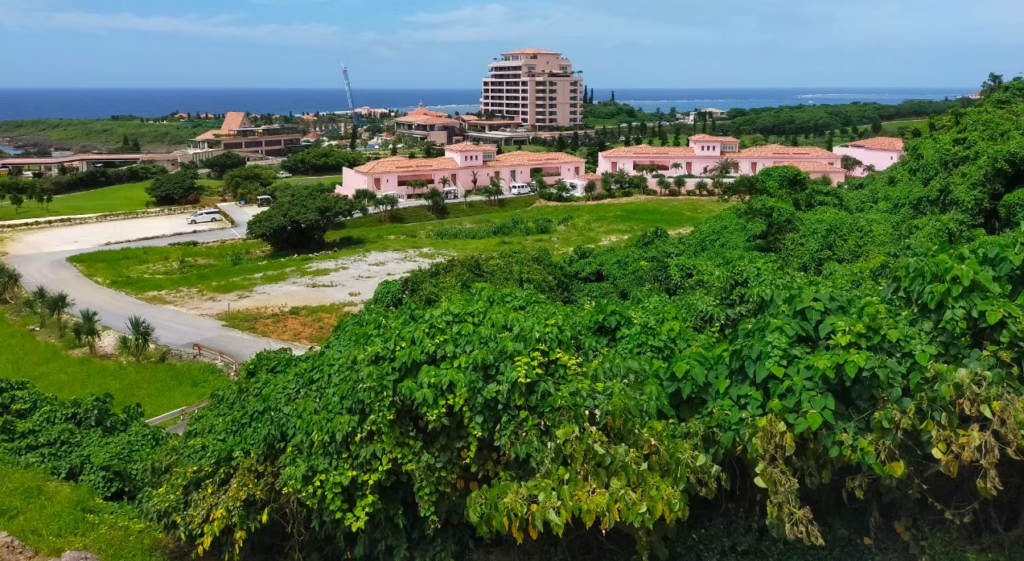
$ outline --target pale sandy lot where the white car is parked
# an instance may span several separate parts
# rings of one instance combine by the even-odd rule
[[[0,250],[9,255],[49,253],[227,227],[224,221],[187,224],[187,217],[188,214],[175,214],[13,232],[0,242]]]

